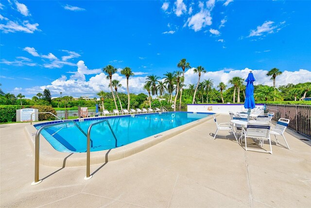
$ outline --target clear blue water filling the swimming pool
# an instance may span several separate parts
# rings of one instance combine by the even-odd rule
[[[88,127],[95,122],[107,119],[117,138],[113,137],[107,122],[94,125],[91,129],[91,151],[101,151],[120,147],[134,141],[173,129],[191,121],[209,116],[211,113],[164,112],[154,114],[128,115],[92,120],[77,121],[77,124],[87,133]],[[39,129],[42,124],[36,124]],[[50,142],[54,149],[60,152],[86,152],[86,136],[72,123],[46,128],[41,134]],[[117,143],[117,146],[116,146]]]

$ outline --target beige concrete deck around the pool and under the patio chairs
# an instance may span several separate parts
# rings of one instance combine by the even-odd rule
[[[229,115],[219,115],[228,122]],[[290,150],[245,151],[213,120],[125,158],[86,167],[40,164],[35,186],[30,123],[0,125],[0,207],[311,207],[311,146],[287,130]],[[274,137],[272,140],[275,141]],[[266,146],[264,146],[265,148]]]

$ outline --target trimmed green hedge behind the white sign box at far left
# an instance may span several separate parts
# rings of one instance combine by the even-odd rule
[[[56,115],[54,108],[49,105],[0,105],[0,123],[15,122],[16,110],[21,108],[35,108],[38,109],[39,112],[51,112]],[[55,120],[55,117],[51,114],[39,114],[38,119],[39,121]]]

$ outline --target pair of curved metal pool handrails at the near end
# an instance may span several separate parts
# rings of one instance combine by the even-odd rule
[[[51,113],[52,114],[52,113]],[[63,121],[63,120],[62,120]],[[107,122],[108,126],[109,126],[109,129],[113,135],[113,137],[115,138],[116,140],[116,147],[117,147],[117,138],[116,138],[116,135],[114,134],[112,128],[111,128],[111,125],[109,123],[108,120],[103,120],[103,121],[99,121],[99,122],[96,122],[96,123],[92,123],[89,127],[88,127],[88,130],[87,130],[87,134],[83,131],[83,129],[75,122],[75,121],[63,121],[62,123],[52,123],[52,124],[48,124],[48,125],[44,125],[42,126],[41,128],[38,129],[38,131],[36,132],[35,134],[35,181],[32,182],[31,185],[37,185],[39,183],[42,182],[42,180],[39,180],[39,158],[40,158],[40,154],[39,154],[39,150],[40,150],[40,134],[42,132],[43,129],[45,128],[48,128],[48,127],[51,127],[51,126],[56,126],[56,125],[59,125],[59,124],[65,124],[67,126],[68,123],[73,123],[87,138],[87,148],[86,148],[86,177],[85,179],[90,179],[92,176],[90,175],[90,146],[93,146],[93,141],[91,139],[91,128],[94,126],[94,125],[97,125],[97,124],[100,124],[102,122]],[[62,128],[64,128],[64,126],[62,126]],[[62,129],[61,128],[61,129]],[[59,130],[58,130],[59,131]],[[58,132],[57,131],[57,132]]]

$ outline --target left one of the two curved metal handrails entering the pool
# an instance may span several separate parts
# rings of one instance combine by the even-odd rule
[[[69,123],[69,122],[73,122],[73,124],[75,126],[78,127],[78,129],[87,137],[87,134],[82,130],[82,128],[75,122],[75,121],[64,121],[63,123]],[[60,123],[52,123],[52,124],[48,124],[48,125],[44,125],[41,128],[39,128],[39,130],[37,131],[37,133],[35,134],[35,181],[32,182],[31,185],[37,185],[39,183],[41,183],[42,180],[39,180],[39,150],[40,150],[40,134],[41,131],[47,127],[51,127],[51,126],[56,126],[59,125]]]

